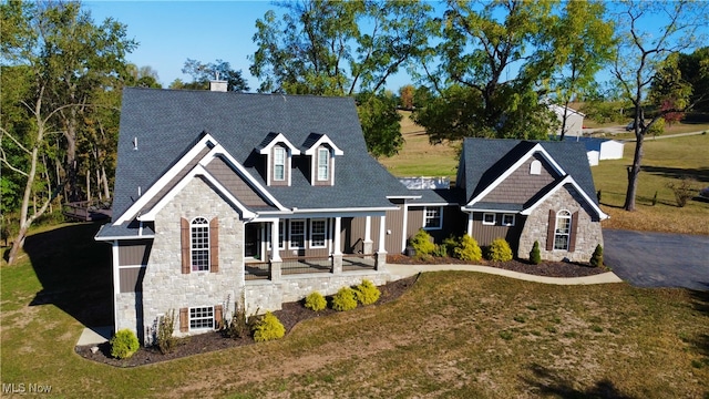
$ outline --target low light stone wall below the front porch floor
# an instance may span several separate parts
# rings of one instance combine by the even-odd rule
[[[291,275],[280,282],[251,280],[246,284],[246,313],[263,314],[266,310],[279,310],[284,303],[298,301],[312,291],[332,295],[345,286],[354,286],[369,279],[374,285],[389,282],[387,272],[345,272],[341,275],[311,274]]]

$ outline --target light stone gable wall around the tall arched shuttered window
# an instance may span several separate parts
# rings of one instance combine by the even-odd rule
[[[182,274],[181,217],[219,218],[219,269],[217,273]],[[207,183],[196,177],[155,216],[155,239],[143,278],[144,330],[157,318],[179,308],[223,305],[232,309],[244,286],[244,223],[236,209]],[[225,311],[225,317],[227,317]],[[178,320],[175,334],[179,334]],[[145,335],[150,344],[151,334]]]

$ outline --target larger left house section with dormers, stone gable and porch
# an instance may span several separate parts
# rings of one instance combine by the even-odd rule
[[[125,89],[113,219],[114,328],[150,344],[240,304],[389,279],[387,218],[410,192],[366,147],[352,99]]]

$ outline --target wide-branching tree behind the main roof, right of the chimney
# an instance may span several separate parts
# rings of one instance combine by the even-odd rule
[[[427,48],[433,25],[429,16],[432,7],[419,1],[305,0],[279,6],[286,11],[280,20],[268,11],[256,21],[254,42],[258,50],[250,57],[249,70],[260,81],[259,92],[380,93],[400,68],[415,66],[413,61]],[[386,101],[360,115],[371,116],[377,111],[384,114],[376,119],[388,120],[392,111],[381,104],[397,105]],[[370,131],[368,150],[388,153],[380,153],[381,137],[390,133],[388,124],[372,126],[384,130]]]

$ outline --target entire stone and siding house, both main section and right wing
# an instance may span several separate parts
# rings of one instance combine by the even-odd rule
[[[151,344],[171,310],[186,336],[236,306],[386,284],[387,254],[420,228],[586,262],[607,216],[584,151],[466,139],[455,186],[408,187],[368,154],[352,99],[125,89],[113,218],[95,237],[112,246],[114,328]]]

